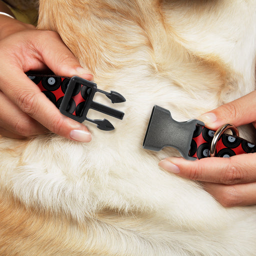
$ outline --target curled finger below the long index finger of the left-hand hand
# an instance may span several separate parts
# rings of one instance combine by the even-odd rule
[[[27,137],[45,133],[46,128],[22,112],[10,99],[0,92],[0,127],[10,137]],[[3,133],[1,133],[3,134]],[[19,136],[18,136],[19,135]],[[5,135],[7,136],[7,135]]]

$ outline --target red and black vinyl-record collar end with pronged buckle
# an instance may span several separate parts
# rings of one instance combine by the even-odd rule
[[[78,122],[87,120],[97,124],[99,129],[114,129],[114,126],[107,119],[87,118],[86,114],[90,108],[118,119],[123,118],[123,112],[92,100],[95,92],[100,92],[105,94],[112,103],[124,102],[125,98],[116,91],[106,92],[100,90],[97,88],[96,83],[78,76],[70,78],[57,75],[26,74],[38,85],[47,98],[59,108],[62,114]]]

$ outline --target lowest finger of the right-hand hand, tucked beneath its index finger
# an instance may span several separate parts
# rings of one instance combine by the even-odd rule
[[[256,182],[224,185],[202,182],[204,189],[225,207],[256,204]]]

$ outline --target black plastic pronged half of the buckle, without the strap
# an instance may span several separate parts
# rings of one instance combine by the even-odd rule
[[[82,101],[79,104],[80,106],[78,107],[78,110],[76,107],[76,112],[74,115],[68,111],[68,108],[70,105],[70,100],[72,100],[71,98],[75,94],[75,91],[77,90],[80,91],[80,93],[82,94],[82,98],[84,99],[84,101]],[[78,122],[83,122],[84,120],[87,120],[97,124],[97,127],[101,130],[112,130],[114,129],[114,126],[107,119],[103,119],[103,120],[89,119],[86,117],[86,114],[89,108],[91,108],[91,109],[100,111],[102,113],[111,115],[113,117],[116,117],[118,119],[123,118],[123,115],[124,115],[123,112],[93,101],[92,99],[95,92],[101,92],[105,94],[109,99],[111,99],[112,103],[125,101],[125,98],[116,91],[110,91],[109,93],[109,92],[97,89],[96,83],[85,80],[78,76],[73,76],[70,78],[70,81],[67,85],[59,110],[62,114]]]

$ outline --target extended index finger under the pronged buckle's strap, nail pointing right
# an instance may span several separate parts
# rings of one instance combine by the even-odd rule
[[[5,76],[1,77],[1,89],[21,111],[60,136],[82,142],[91,140],[91,134],[87,128],[62,115],[22,70],[13,66],[12,72],[15,73],[15,76],[9,73],[9,70],[4,70],[3,73],[9,79],[6,79]]]

